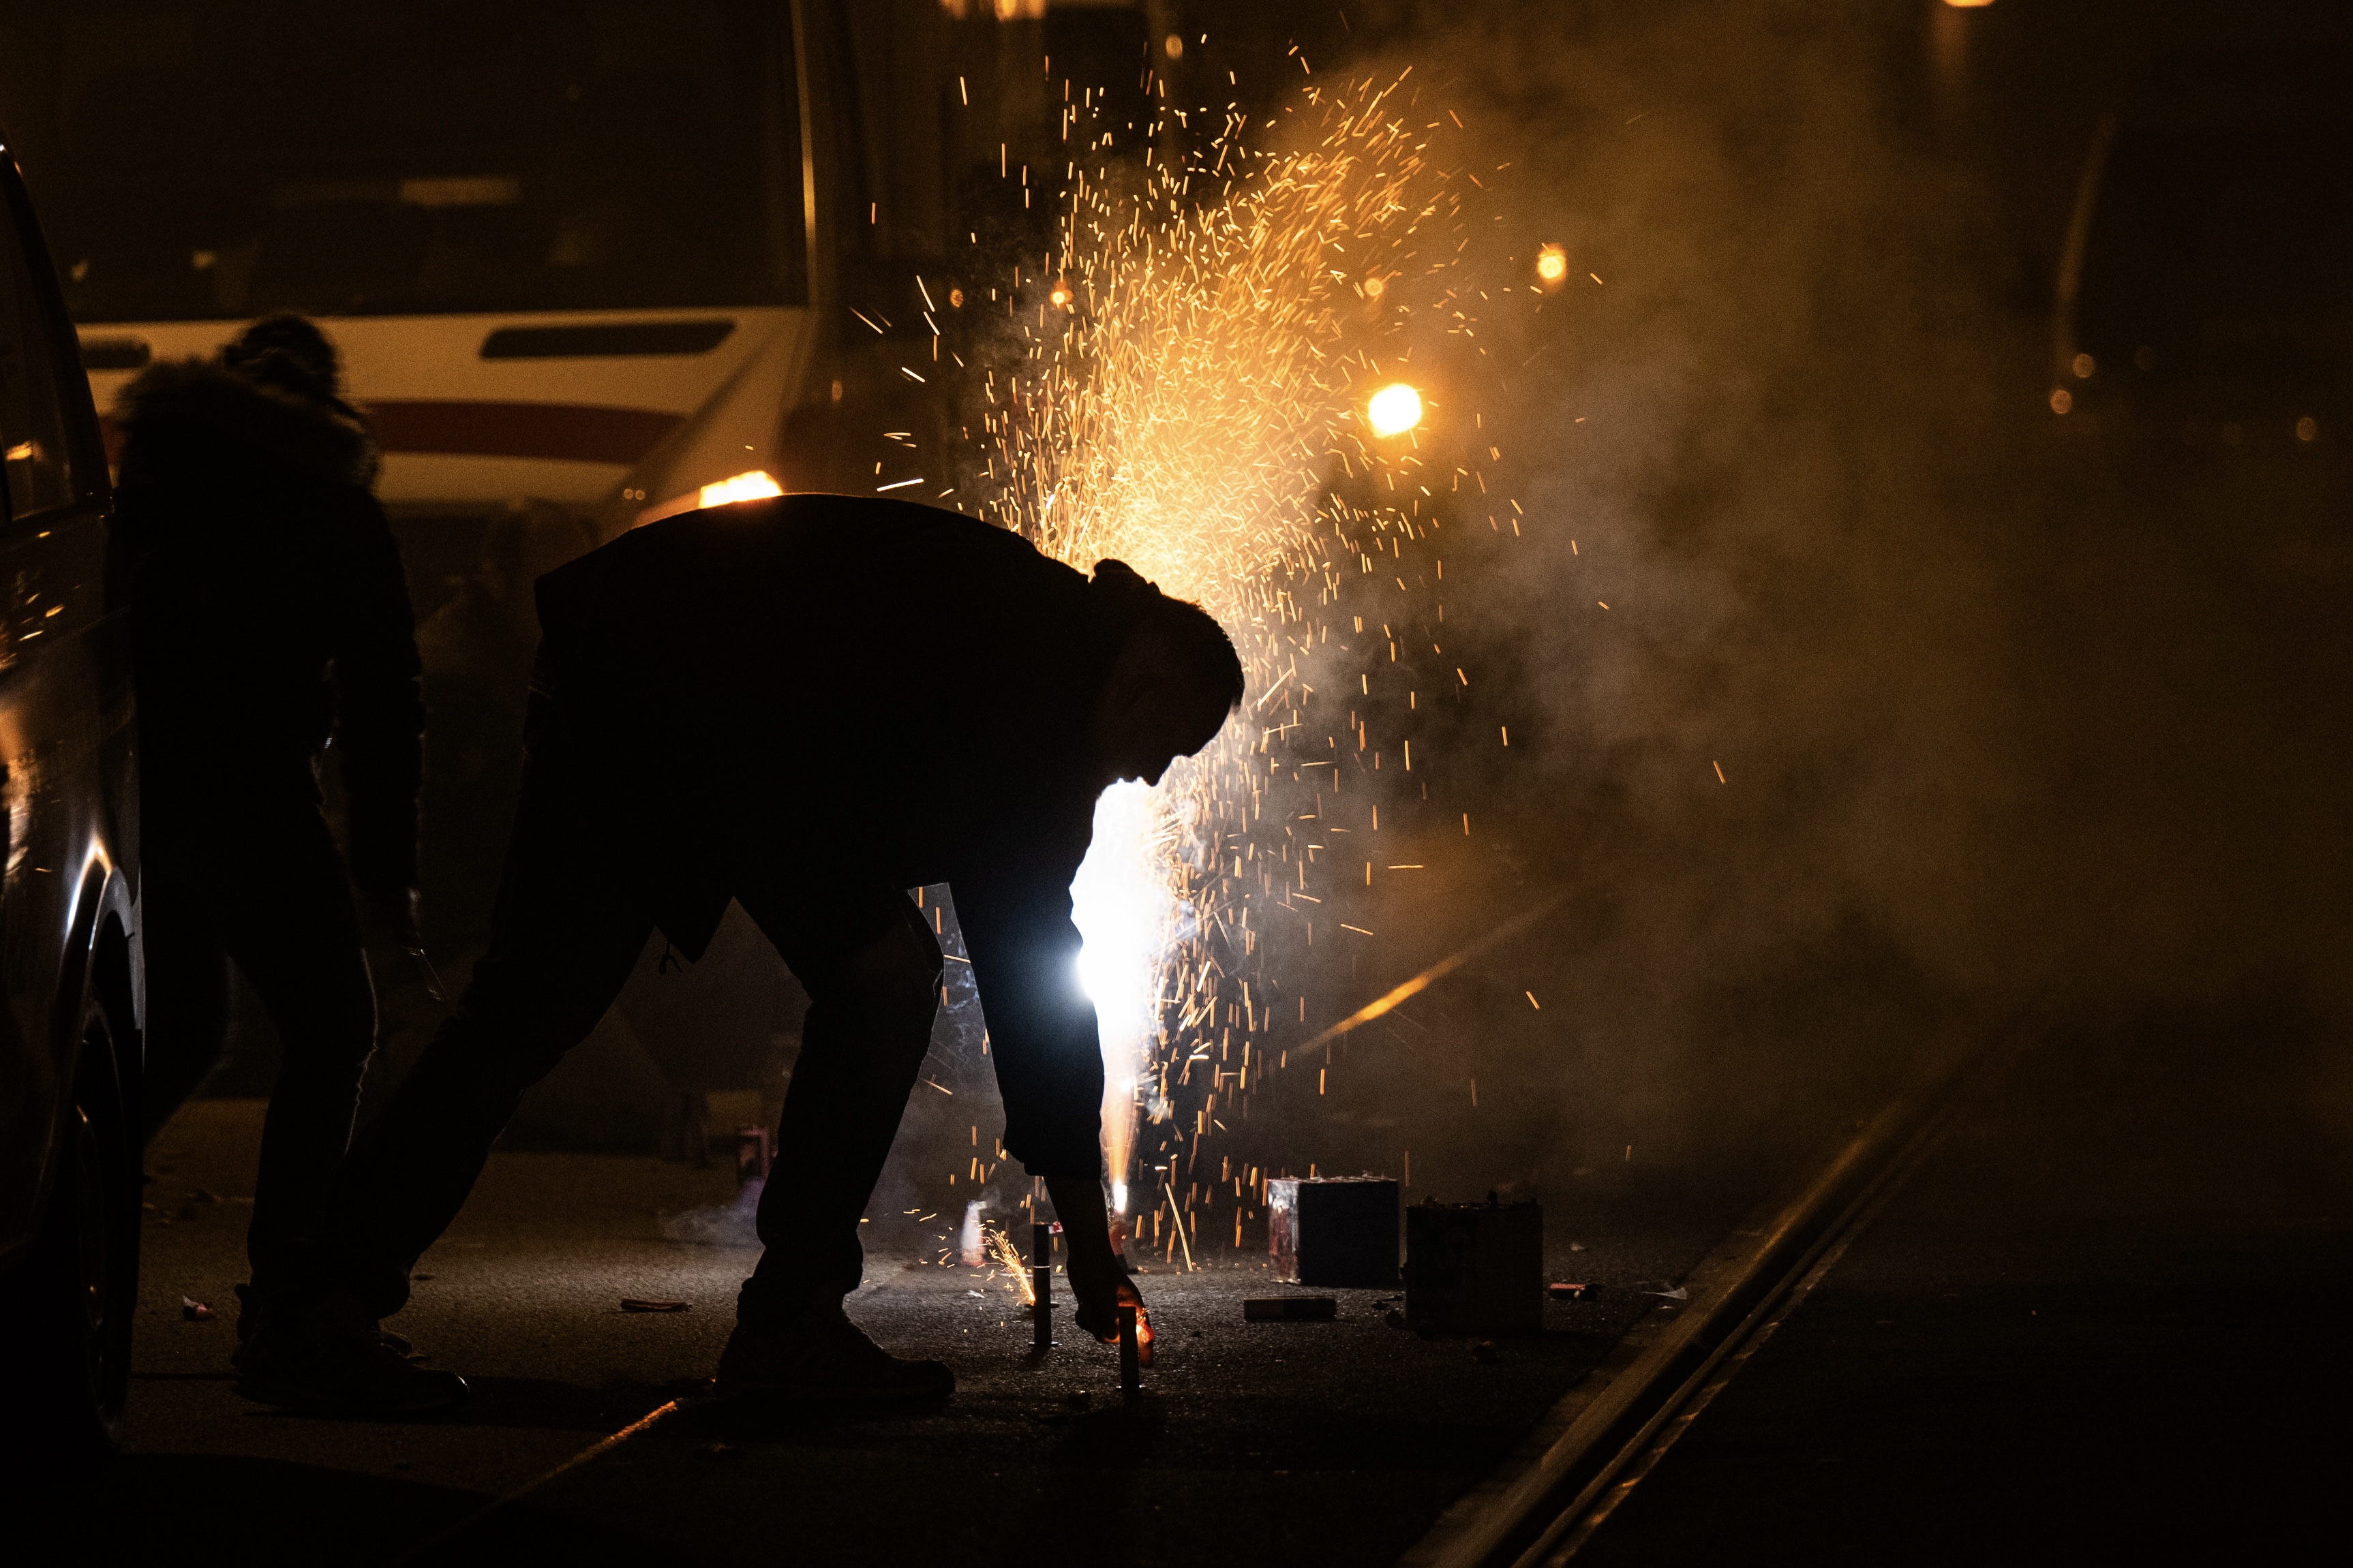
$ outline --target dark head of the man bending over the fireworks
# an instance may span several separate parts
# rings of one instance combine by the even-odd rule
[[[1160,783],[1242,705],[1242,658],[1209,611],[1169,599],[1122,562],[1096,562],[1094,588],[1134,609],[1094,710],[1104,783]]]

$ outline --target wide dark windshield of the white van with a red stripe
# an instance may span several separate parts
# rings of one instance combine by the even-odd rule
[[[802,303],[779,5],[12,7],[80,322]]]

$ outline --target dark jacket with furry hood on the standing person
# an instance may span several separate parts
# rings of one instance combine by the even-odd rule
[[[200,360],[144,371],[118,421],[148,823],[233,832],[315,809],[332,733],[353,877],[386,898],[414,886],[424,703],[367,430],[341,402]]]

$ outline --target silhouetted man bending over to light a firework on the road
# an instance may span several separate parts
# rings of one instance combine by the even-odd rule
[[[416,1258],[522,1091],[595,1027],[659,926],[699,954],[729,896],[809,992],[720,1389],[953,1387],[842,1316],[859,1215],[932,1037],[941,957],[901,889],[946,882],[988,1013],[1005,1147],[1042,1175],[1078,1321],[1127,1284],[1104,1225],[1104,1070],[1071,877],[1094,797],[1158,780],[1242,698],[1224,630],[1120,562],[892,501],[791,496],[624,534],[539,581],[546,632],[492,947],[369,1124],[336,1229],[266,1281],[240,1361],[268,1403],[464,1394],[384,1349]]]

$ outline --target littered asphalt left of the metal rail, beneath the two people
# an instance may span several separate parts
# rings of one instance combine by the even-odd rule
[[[1595,1281],[1598,1300],[1548,1305],[1541,1338],[1480,1354],[1386,1326],[1395,1293],[1337,1291],[1332,1324],[1245,1324],[1245,1295],[1282,1291],[1264,1265],[1160,1265],[1141,1281],[1160,1356],[1132,1408],[1113,1349],[1066,1333],[1031,1354],[1007,1279],[878,1255],[852,1314],[901,1354],[948,1361],[955,1401],[791,1420],[696,1399],[753,1251],[668,1239],[664,1220],[675,1232],[680,1213],[725,1211],[729,1173],[501,1152],[395,1321],[431,1366],[466,1373],[473,1401],[454,1418],[358,1422],[231,1392],[259,1124],[259,1100],[198,1100],[151,1150],[129,1450],[92,1490],[52,1500],[40,1544],[56,1561],[400,1561],[468,1519],[428,1561],[527,1542],[567,1561],[993,1563],[1089,1540],[1129,1563],[1386,1561],[1753,1201],[1555,1215],[1553,1276]],[[689,1309],[624,1312],[621,1298]],[[219,1316],[191,1321],[184,1300]],[[475,1519],[673,1399],[682,1408],[647,1434]]]

